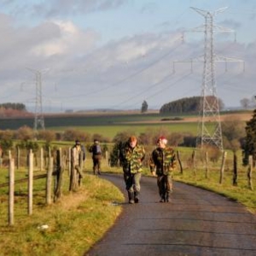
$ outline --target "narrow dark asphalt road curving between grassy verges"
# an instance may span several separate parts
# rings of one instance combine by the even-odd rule
[[[103,174],[125,193],[122,176]],[[84,256],[256,255],[256,216],[241,204],[174,183],[160,203],[156,179],[143,177],[138,204],[124,203],[113,228]]]

